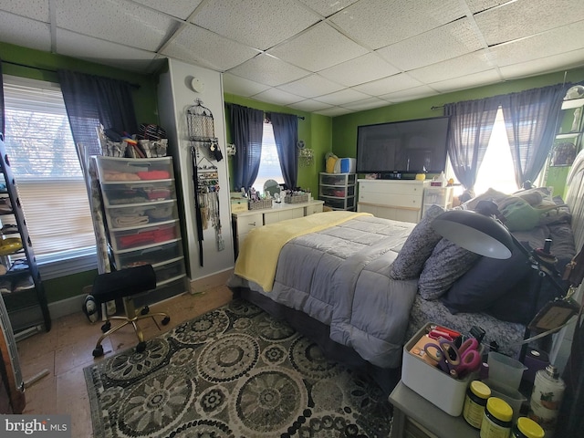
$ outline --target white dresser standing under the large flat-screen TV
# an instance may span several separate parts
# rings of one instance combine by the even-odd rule
[[[430,181],[357,180],[357,211],[417,224],[422,219],[424,189]]]

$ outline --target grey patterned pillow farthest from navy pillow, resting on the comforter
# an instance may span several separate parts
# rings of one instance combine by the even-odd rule
[[[433,220],[444,213],[440,205],[431,205],[419,224],[413,227],[398,256],[391,264],[390,276],[394,280],[411,280],[422,272],[426,259],[432,254],[434,246],[442,235],[432,227]]]

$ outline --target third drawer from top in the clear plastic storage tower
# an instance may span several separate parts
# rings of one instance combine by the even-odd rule
[[[174,201],[114,207],[106,210],[106,214],[108,215],[108,224],[112,229],[156,224],[179,217]]]

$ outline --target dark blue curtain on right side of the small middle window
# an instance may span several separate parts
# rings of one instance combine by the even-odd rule
[[[298,116],[272,112],[268,115],[268,119],[272,122],[284,183],[288,189],[294,190],[297,187],[298,178]]]

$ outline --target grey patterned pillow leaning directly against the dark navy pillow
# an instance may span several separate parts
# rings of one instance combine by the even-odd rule
[[[442,239],[423,265],[418,280],[420,296],[428,300],[442,297],[480,257],[448,239]]]

